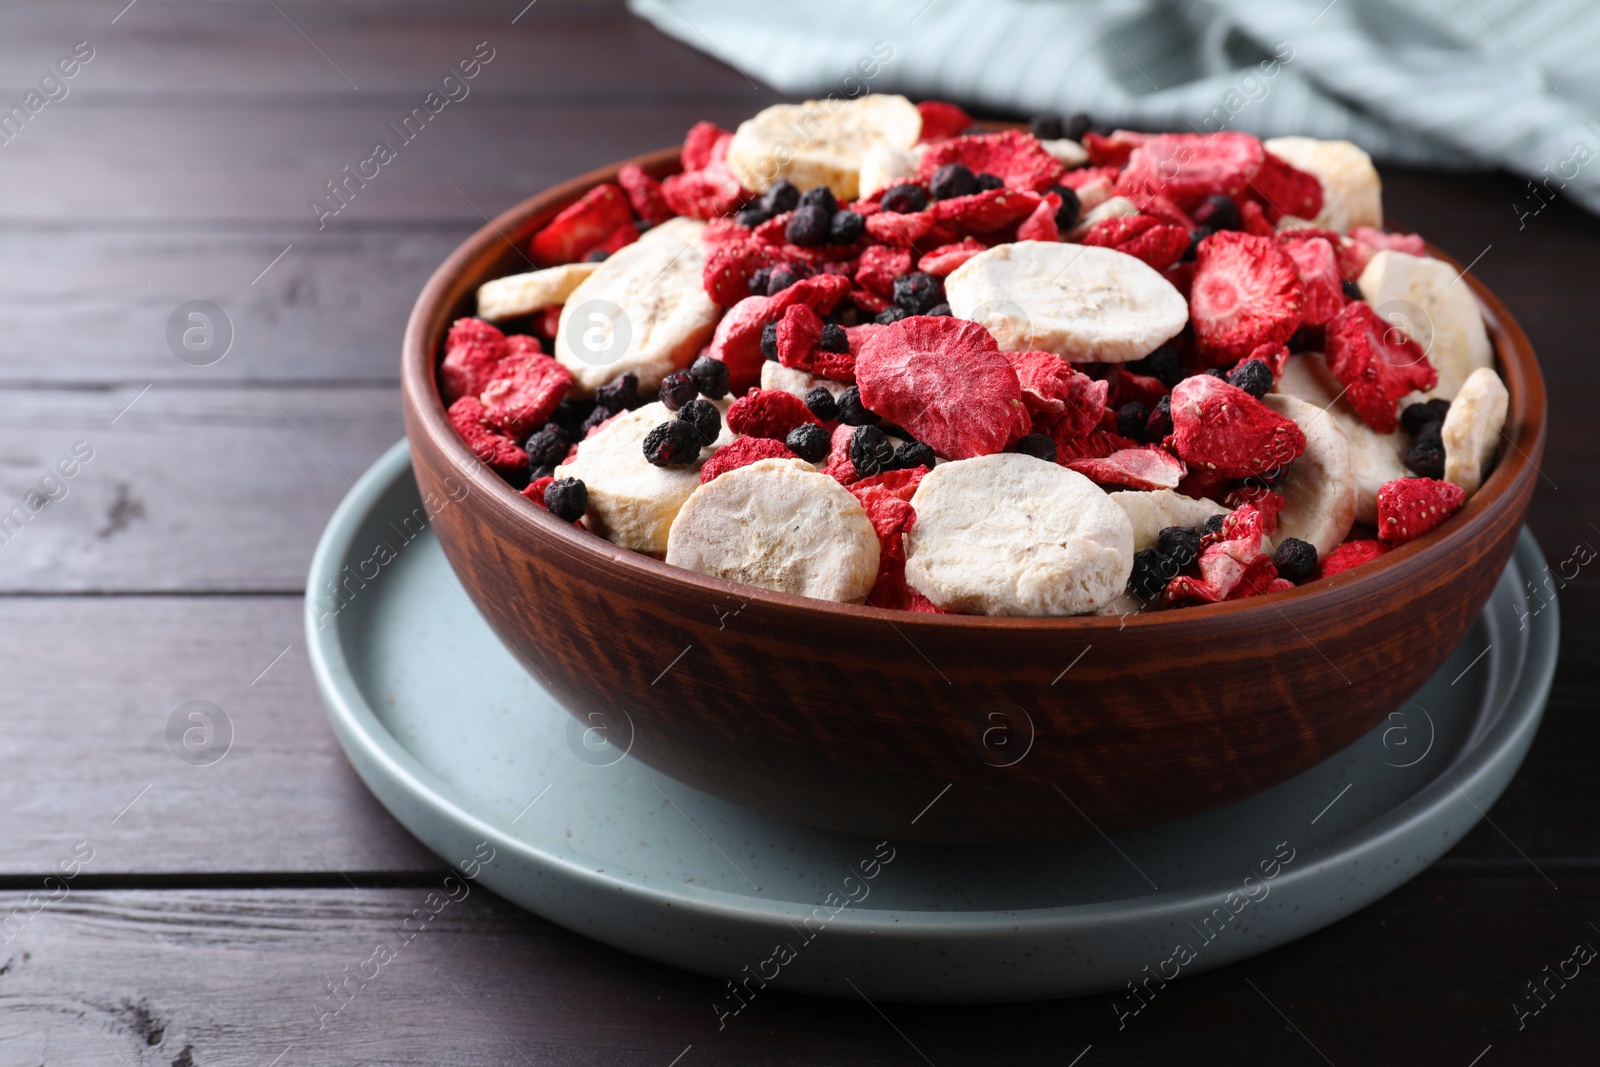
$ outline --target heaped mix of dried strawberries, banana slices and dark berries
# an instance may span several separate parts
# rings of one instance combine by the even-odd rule
[[[1477,304],[1381,218],[1342,141],[784,104],[555,213],[450,328],[440,397],[531,509],[776,592],[1267,595],[1429,536],[1493,472]]]

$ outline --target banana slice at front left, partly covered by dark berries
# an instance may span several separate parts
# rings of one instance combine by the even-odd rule
[[[582,478],[589,490],[589,530],[613,544],[659,557],[667,530],[683,501],[699,486],[699,467],[733,440],[726,426],[699,462],[656,467],[645,459],[645,435],[675,418],[661,402],[626,411],[578,445],[578,454],[555,469],[557,478]]]

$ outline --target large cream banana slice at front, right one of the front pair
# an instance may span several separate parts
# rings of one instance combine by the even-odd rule
[[[910,499],[906,579],[946,611],[1098,611],[1133,571],[1133,525],[1098,485],[1053,462],[998,453],[941,464]]]

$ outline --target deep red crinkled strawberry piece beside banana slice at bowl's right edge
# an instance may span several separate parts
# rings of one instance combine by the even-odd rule
[[[1395,432],[1402,397],[1438,384],[1422,346],[1379,318],[1366,301],[1346,304],[1325,333],[1328,370],[1344,386],[1355,414],[1379,434]]]

